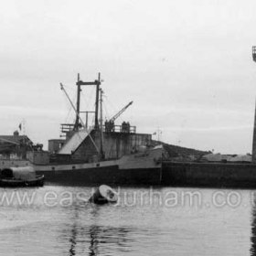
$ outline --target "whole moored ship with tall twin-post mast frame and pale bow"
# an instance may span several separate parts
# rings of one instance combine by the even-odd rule
[[[12,166],[32,166],[46,183],[67,185],[160,185],[162,183],[161,144],[153,144],[152,134],[137,133],[129,122],[115,121],[133,104],[129,102],[120,112],[103,123],[101,74],[97,80],[76,82],[76,106],[60,83],[60,89],[75,112],[74,123],[61,123],[62,139],[48,140],[48,151],[31,147],[26,158],[0,161],[0,169]],[[80,91],[83,86],[95,87],[93,111],[80,110]],[[86,120],[81,118],[86,113]],[[94,123],[88,125],[91,114]],[[35,150],[36,148],[36,150]],[[23,154],[24,155],[24,154]]]

